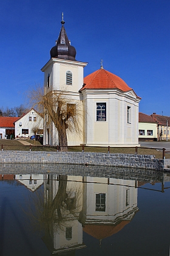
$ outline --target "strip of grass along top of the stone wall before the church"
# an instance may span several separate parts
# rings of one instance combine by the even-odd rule
[[[56,151],[56,147],[42,146],[38,141],[25,140],[32,144],[32,151]],[[0,140],[0,146],[3,144],[4,151],[29,151],[29,146],[24,146],[18,140]],[[69,152],[82,152],[82,146],[80,147],[68,147]],[[102,152],[107,153],[108,148],[100,147],[84,147],[84,152]],[[115,154],[135,154],[135,148],[110,148],[110,153]],[[162,158],[162,151],[156,149],[138,148],[138,154],[140,155],[155,155],[155,158]],[[165,158],[170,158],[170,154],[165,154]]]

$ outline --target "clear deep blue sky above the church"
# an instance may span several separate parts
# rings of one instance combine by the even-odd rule
[[[139,111],[170,116],[169,0],[1,0],[0,108],[25,104],[61,29],[61,14],[84,76],[100,68],[140,96]]]

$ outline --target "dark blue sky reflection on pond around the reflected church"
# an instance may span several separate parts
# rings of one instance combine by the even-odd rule
[[[121,180],[115,181],[122,182]],[[126,180],[123,183],[126,184]],[[168,188],[170,182],[165,182],[164,185],[165,188]],[[110,186],[118,187],[118,185]],[[43,190],[44,185],[37,189],[38,193],[42,193]],[[83,232],[83,243],[86,244],[86,248],[77,250],[75,255],[147,256],[158,253],[161,256],[168,255],[170,190],[165,189],[165,193],[158,191],[161,191],[160,182],[155,182],[155,185],[150,183],[141,185],[137,189],[139,211],[132,221],[119,232],[102,241]],[[1,255],[50,255],[46,244],[42,241],[44,232],[40,232],[37,227],[35,229],[32,226],[32,218],[25,212],[28,206],[32,209],[35,208],[35,192],[33,193],[24,185],[18,185],[15,180],[8,182],[4,180],[0,182],[0,193]],[[114,196],[111,194],[111,202],[114,202]]]

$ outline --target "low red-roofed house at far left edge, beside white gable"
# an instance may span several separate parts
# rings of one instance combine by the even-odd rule
[[[15,122],[18,117],[0,116],[0,139],[15,138]]]

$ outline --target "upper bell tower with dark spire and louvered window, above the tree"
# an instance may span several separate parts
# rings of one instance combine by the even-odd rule
[[[75,59],[76,49],[70,45],[64,24],[62,15],[58,40],[50,50],[49,62],[41,69],[44,72],[44,91],[66,90],[70,94],[79,94],[83,86],[83,68],[87,63]]]

